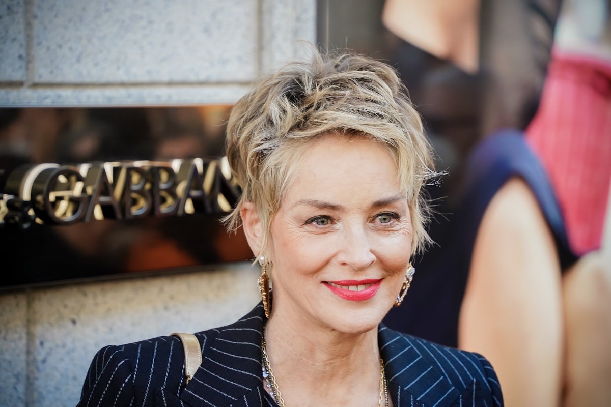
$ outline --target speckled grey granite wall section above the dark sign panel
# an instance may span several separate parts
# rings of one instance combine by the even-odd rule
[[[315,41],[315,0],[2,0],[0,106],[232,103]]]

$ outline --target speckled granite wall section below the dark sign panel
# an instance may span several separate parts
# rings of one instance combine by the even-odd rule
[[[0,405],[76,405],[98,349],[231,323],[259,301],[259,272],[244,262],[0,294]]]

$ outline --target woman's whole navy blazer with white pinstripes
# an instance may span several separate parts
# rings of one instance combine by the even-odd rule
[[[177,337],[162,336],[98,351],[78,407],[253,407],[276,404],[263,389],[258,304],[232,325],[197,333],[202,365],[185,386]],[[469,353],[378,328],[389,394],[395,407],[502,406],[489,362]]]

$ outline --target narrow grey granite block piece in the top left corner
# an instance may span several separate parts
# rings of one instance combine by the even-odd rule
[[[0,0],[0,82],[23,82],[27,76],[24,0]]]

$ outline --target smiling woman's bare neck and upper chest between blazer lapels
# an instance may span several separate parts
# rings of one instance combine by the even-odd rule
[[[265,327],[276,384],[289,407],[378,405],[378,330],[346,334],[274,310]]]

